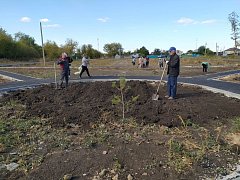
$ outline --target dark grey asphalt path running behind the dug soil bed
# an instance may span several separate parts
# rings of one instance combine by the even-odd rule
[[[216,80],[217,77],[221,76],[227,76],[231,74],[237,74],[240,73],[240,70],[233,70],[233,71],[226,71],[226,72],[220,72],[220,73],[214,73],[214,74],[206,74],[201,76],[195,76],[195,77],[179,77],[178,82],[180,83],[189,83],[189,84],[196,84],[196,85],[202,85],[202,86],[208,86],[215,89],[220,89],[223,91],[228,91],[230,93],[235,93],[240,95],[240,84],[231,83],[231,82],[224,82]],[[6,92],[6,91],[12,91],[17,90],[21,88],[30,88],[34,86],[38,86],[41,84],[49,84],[54,82],[53,79],[36,79],[29,76],[24,76],[16,73],[10,73],[6,71],[0,71],[0,75],[9,76],[15,79],[19,79],[21,81],[14,81],[9,83],[0,84],[0,93]],[[83,78],[82,80],[79,79],[73,79],[72,82],[78,82],[78,81],[97,81],[97,80],[117,80],[119,79],[118,76],[95,76],[91,79],[89,78]],[[159,80],[160,77],[158,76],[127,76],[126,79],[129,80]],[[164,80],[167,80],[166,78]]]

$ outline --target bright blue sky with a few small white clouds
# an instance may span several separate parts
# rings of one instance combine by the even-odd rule
[[[103,51],[119,42],[125,51],[145,46],[184,52],[207,43],[215,51],[233,47],[228,14],[240,15],[240,0],[1,0],[0,26],[8,33],[23,32],[40,44],[63,44],[72,38]]]

